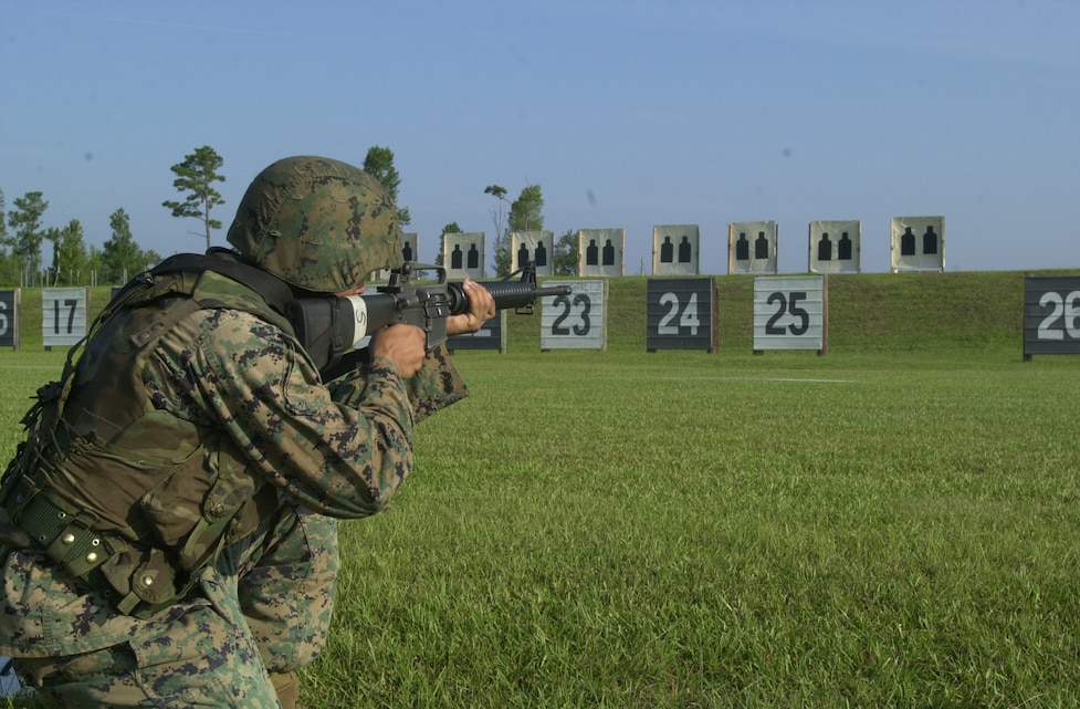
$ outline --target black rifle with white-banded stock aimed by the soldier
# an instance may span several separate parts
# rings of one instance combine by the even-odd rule
[[[434,283],[417,284],[413,274],[436,271]],[[521,275],[518,280],[513,280]],[[495,300],[495,310],[513,307],[517,313],[533,312],[539,298],[569,295],[567,285],[538,288],[532,267],[514,271],[502,281],[482,281]],[[461,283],[447,282],[441,265],[406,261],[390,271],[390,280],[377,293],[345,298],[305,298],[285,305],[285,315],[296,337],[323,373],[332,380],[356,366],[358,353],[345,356],[367,335],[396,323],[416,325],[426,333],[424,346],[432,350],[447,340],[447,317],[469,311],[469,298]],[[366,356],[366,355],[365,355]]]

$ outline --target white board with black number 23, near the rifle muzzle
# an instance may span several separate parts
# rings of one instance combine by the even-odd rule
[[[607,281],[544,281],[569,295],[541,299],[541,350],[607,350]]]

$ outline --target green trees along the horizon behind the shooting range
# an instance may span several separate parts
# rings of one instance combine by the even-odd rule
[[[223,159],[210,146],[196,148],[181,163],[170,167],[175,175],[172,186],[182,199],[165,200],[161,206],[174,217],[196,219],[200,236],[206,236],[207,249],[211,234],[222,223],[214,217],[214,208],[224,205],[217,183],[226,181],[221,174]],[[377,179],[398,204],[401,177],[394,166],[394,152],[388,147],[368,149],[364,171]],[[518,198],[510,201],[507,191],[500,185],[489,185],[484,194],[495,199],[491,209],[495,227],[494,270],[506,275],[511,268],[510,234],[520,231],[544,229],[544,197],[539,185],[526,185]],[[29,191],[12,200],[7,210],[3,190],[0,189],[0,285],[3,286],[57,286],[122,284],[137,273],[151,268],[161,257],[153,249],[143,249],[132,234],[130,218],[119,208],[109,216],[112,236],[98,247],[87,244],[83,226],[72,219],[63,227],[44,226],[49,201],[42,191]],[[398,206],[398,220],[402,228],[411,221],[408,207]],[[441,233],[461,232],[455,221],[443,227]],[[440,233],[440,236],[441,236]],[[52,262],[45,263],[42,247],[52,243]],[[440,240],[437,264],[442,263]],[[554,271],[558,275],[572,275],[577,267],[575,232],[565,232],[555,244]]]

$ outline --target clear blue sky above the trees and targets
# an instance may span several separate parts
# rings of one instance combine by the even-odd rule
[[[124,208],[144,248],[201,251],[169,167],[224,159],[227,226],[287,155],[395,153],[432,260],[451,221],[492,234],[499,184],[538,184],[556,236],[941,215],[947,270],[1080,267],[1080,2],[1073,0],[0,0],[0,189],[90,243]],[[214,233],[224,244],[224,229]],[[490,238],[490,237],[489,237]],[[46,254],[48,258],[48,254]]]

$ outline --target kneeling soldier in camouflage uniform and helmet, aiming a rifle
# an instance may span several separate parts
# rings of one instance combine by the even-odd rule
[[[113,299],[4,472],[0,654],[60,706],[295,706],[331,621],[336,520],[378,512],[412,467],[413,426],[468,394],[411,325],[323,382],[244,277],[353,294],[397,265],[395,207],[361,170],[274,163],[228,240],[230,268],[167,261]],[[464,288],[449,334],[494,315]]]

